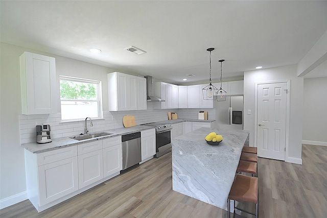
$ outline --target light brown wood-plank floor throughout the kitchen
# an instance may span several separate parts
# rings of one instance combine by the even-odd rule
[[[258,161],[259,217],[327,217],[327,147],[303,144],[302,165]],[[0,210],[0,217],[183,218],[227,217],[227,212],[173,191],[167,154],[48,210],[38,213],[26,200]]]

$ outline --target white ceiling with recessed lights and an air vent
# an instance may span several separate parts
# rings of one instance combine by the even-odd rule
[[[297,64],[327,1],[1,1],[1,41],[175,84]],[[146,51],[137,55],[129,46]],[[99,54],[89,49],[102,50]],[[326,63],[306,77],[327,76]],[[193,74],[195,77],[186,75]],[[312,74],[312,76],[310,76]]]

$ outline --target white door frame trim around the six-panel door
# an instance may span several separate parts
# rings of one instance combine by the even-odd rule
[[[289,127],[290,127],[290,80],[273,80],[265,82],[255,82],[254,86],[254,147],[258,148],[258,85],[261,84],[271,84],[271,83],[286,83],[287,93],[286,93],[286,127],[285,127],[285,158],[288,158],[289,149]],[[284,91],[284,90],[283,90]]]

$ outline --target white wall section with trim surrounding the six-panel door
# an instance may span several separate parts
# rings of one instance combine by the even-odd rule
[[[303,112],[303,78],[296,77],[296,65],[274,67],[244,72],[244,111],[251,110],[251,115],[244,113],[244,130],[250,131],[250,146],[254,144],[255,83],[290,81],[290,115],[289,138],[286,161],[301,163],[302,151],[302,112]]]

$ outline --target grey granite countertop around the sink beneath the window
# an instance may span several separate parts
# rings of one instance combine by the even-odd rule
[[[102,132],[108,132],[108,133],[112,133],[112,134],[97,137],[97,138],[89,138],[89,139],[84,139],[84,140],[79,141],[79,140],[72,139],[69,137],[64,137],[64,138],[53,139],[52,142],[49,142],[49,143],[39,144],[36,142],[31,142],[31,143],[21,144],[21,146],[32,153],[42,153],[42,152],[48,152],[48,151],[62,149],[62,148],[70,147],[70,146],[76,146],[78,144],[83,144],[83,143],[87,143],[90,141],[116,137],[116,136],[125,135],[125,134],[129,134],[129,133],[133,133],[133,132],[148,130],[148,129],[154,129],[154,127],[137,125],[137,126],[128,127],[128,128],[104,130]]]

